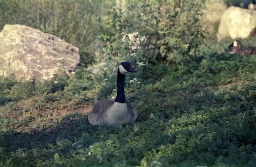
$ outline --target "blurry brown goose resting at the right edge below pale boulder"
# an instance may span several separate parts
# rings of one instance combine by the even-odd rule
[[[256,47],[243,46],[239,40],[235,40],[231,45],[229,45],[228,53],[256,56]]]

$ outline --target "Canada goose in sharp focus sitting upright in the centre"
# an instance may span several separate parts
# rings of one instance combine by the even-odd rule
[[[138,113],[129,102],[125,101],[125,75],[128,72],[137,72],[129,62],[122,62],[117,70],[117,96],[115,100],[104,99],[93,106],[88,115],[90,124],[115,126],[131,124]]]

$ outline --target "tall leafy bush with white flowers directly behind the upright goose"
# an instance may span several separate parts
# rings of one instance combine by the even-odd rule
[[[110,7],[103,24],[104,54],[114,62],[134,57],[146,64],[187,64],[204,39],[203,6],[199,0],[134,0],[126,8]]]

